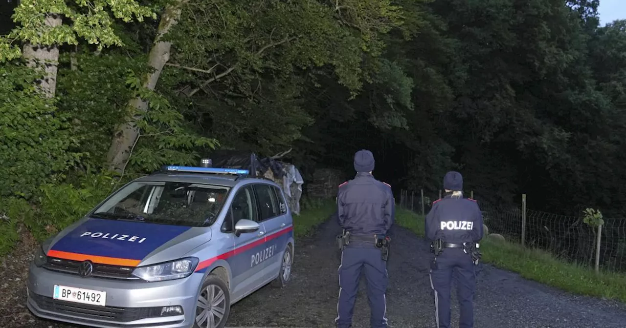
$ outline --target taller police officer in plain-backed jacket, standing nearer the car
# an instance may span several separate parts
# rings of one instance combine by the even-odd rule
[[[354,170],[356,177],[339,185],[337,192],[337,216],[347,244],[341,253],[335,322],[337,328],[352,326],[352,310],[361,270],[364,269],[371,327],[382,328],[387,327],[385,293],[388,277],[386,256],[376,243],[389,241],[386,236],[394,221],[395,202],[391,186],[372,176],[374,156],[371,151],[361,150],[354,154]]]

